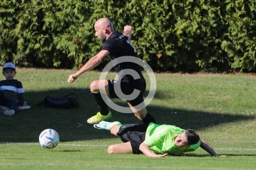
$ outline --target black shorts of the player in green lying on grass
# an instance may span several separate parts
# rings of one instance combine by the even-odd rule
[[[145,134],[148,124],[124,124],[119,128],[117,135],[121,137],[124,143],[130,142],[132,153],[141,154],[140,144],[145,141]]]

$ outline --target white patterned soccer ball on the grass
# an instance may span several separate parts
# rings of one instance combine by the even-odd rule
[[[39,143],[43,148],[53,149],[60,142],[59,134],[51,129],[47,128],[39,135]]]

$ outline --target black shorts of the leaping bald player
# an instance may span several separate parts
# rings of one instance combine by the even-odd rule
[[[109,88],[109,97],[110,98],[120,98],[116,95],[115,87],[120,86],[122,93],[124,95],[131,95],[131,93],[134,91],[134,89],[138,89],[140,91],[140,94],[138,97],[134,98],[133,100],[121,98],[123,100],[126,100],[131,104],[132,106],[139,105],[141,103],[144,104],[144,98],[143,93],[146,89],[146,82],[143,82],[142,84],[132,84],[131,82],[123,82],[123,81],[116,81],[116,80],[108,80],[108,88]]]

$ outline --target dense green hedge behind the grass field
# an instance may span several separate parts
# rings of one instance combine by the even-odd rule
[[[4,0],[0,64],[79,68],[101,47],[94,22],[108,17],[116,31],[134,27],[132,43],[154,70],[254,72],[255,9],[254,0]]]

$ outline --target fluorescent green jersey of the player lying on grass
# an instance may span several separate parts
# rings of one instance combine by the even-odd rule
[[[174,125],[157,125],[150,123],[147,128],[144,143],[147,144],[154,153],[183,155],[185,152],[195,151],[200,147],[200,141],[191,145],[189,148],[174,145],[175,137],[185,131],[186,130]]]

